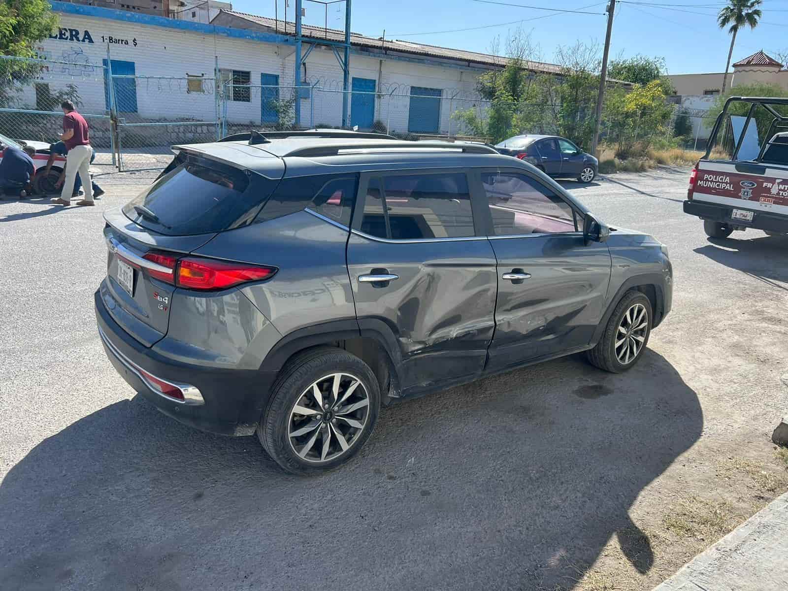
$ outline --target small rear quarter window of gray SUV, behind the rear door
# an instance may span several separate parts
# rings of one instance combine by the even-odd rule
[[[349,227],[355,200],[356,180],[355,175],[348,177],[319,175],[283,179],[262,207],[255,221],[273,220],[308,207]]]

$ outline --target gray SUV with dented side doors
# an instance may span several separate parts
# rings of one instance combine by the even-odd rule
[[[665,247],[532,165],[325,135],[176,147],[106,213],[99,334],[163,413],[318,473],[394,400],[579,351],[628,370],[671,310]]]

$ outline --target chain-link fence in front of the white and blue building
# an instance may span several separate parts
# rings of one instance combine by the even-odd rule
[[[81,50],[65,58],[0,56],[0,133],[52,143],[61,131],[60,102],[69,99],[90,125],[94,165],[121,171],[161,169],[172,158],[173,145],[250,129],[344,127],[403,139],[485,142],[539,133],[567,135],[578,143],[587,143],[583,138],[593,130],[593,105],[569,113],[559,102],[509,105],[483,99],[467,85],[458,90],[366,80],[366,89],[344,91],[336,80],[294,86],[278,84],[273,74],[262,74],[263,84],[245,84],[249,72],[240,76],[244,72],[219,69],[217,59],[212,72],[158,76],[134,71],[132,62],[114,60],[109,51],[102,65]],[[658,133],[648,123],[614,121],[605,112],[600,139],[611,145],[659,135],[687,149],[704,149],[713,118],[703,110],[673,108],[668,122],[660,120]]]

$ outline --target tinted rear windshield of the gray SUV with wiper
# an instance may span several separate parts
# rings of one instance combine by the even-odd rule
[[[180,154],[154,184],[124,206],[123,213],[137,225],[169,236],[221,232],[254,219],[277,183]]]

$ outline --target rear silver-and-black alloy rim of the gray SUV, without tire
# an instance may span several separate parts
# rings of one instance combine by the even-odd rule
[[[314,381],[290,411],[288,440],[299,458],[329,462],[358,440],[370,414],[370,398],[352,374],[329,374]]]

